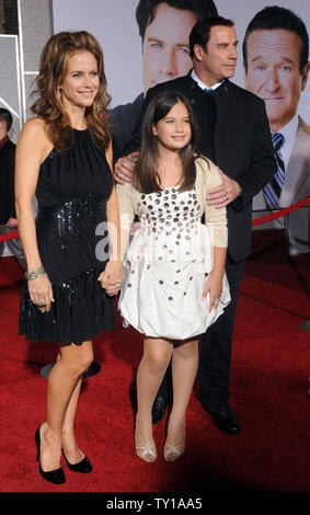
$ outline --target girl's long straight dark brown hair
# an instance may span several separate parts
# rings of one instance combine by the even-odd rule
[[[196,141],[196,125],[193,118],[191,104],[181,93],[174,91],[164,91],[157,94],[149,103],[142,122],[141,146],[139,158],[136,163],[136,170],[133,179],[133,185],[140,193],[160,192],[160,180],[158,170],[158,142],[152,133],[152,127],[164,118],[171,108],[182,102],[188,111],[192,137],[188,144],[180,150],[180,158],[183,164],[183,176],[179,191],[186,191],[194,187],[196,179],[194,148]]]

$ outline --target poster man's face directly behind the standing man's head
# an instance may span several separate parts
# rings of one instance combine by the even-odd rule
[[[192,11],[160,3],[147,26],[142,46],[145,92],[153,85],[185,76],[192,68],[188,36],[196,16]]]

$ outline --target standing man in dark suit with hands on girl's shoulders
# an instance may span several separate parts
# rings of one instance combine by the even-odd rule
[[[276,171],[264,102],[230,82],[238,52],[233,22],[220,16],[198,22],[190,36],[193,70],[183,78],[148,91],[133,140],[125,154],[137,150],[146,106],[160,91],[186,95],[197,122],[197,149],[218,164],[222,184],[208,193],[208,201],[227,206],[228,256],[226,272],[231,302],[202,336],[198,380],[199,400],[216,426],[238,434],[240,424],[229,407],[229,375],[239,286],[251,244],[252,198]],[[118,182],[130,181],[126,157],[115,165]],[[161,387],[158,398],[163,398]]]

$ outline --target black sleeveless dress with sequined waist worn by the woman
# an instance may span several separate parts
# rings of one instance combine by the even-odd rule
[[[107,261],[106,199],[112,188],[105,152],[88,129],[74,129],[72,148],[62,153],[54,149],[42,163],[36,233],[55,302],[42,313],[24,282],[20,334],[27,340],[81,344],[114,329],[114,299],[97,281]]]

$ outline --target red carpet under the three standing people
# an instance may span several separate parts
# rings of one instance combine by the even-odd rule
[[[55,487],[37,473],[34,433],[45,417],[46,380],[41,368],[55,359],[55,344],[18,335],[19,281],[12,258],[0,261],[0,491],[1,492],[306,492],[309,491],[310,256],[290,262],[266,254],[248,263],[242,283],[231,365],[231,407],[239,436],[216,430],[192,396],[185,456],[148,465],[133,446],[130,387],[141,337],[117,330],[96,339],[102,370],[84,381],[78,438],[94,470],[64,468]],[[154,428],[159,451],[165,421]]]

